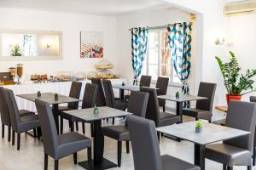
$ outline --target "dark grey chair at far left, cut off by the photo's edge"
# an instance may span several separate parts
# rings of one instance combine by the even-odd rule
[[[1,121],[2,121],[2,138],[4,138],[4,127],[8,127],[8,141],[10,141],[11,137],[11,122],[9,116],[9,110],[4,94],[4,88],[0,87],[0,114],[1,114]],[[20,116],[30,116],[35,115],[32,111],[20,110]],[[36,136],[35,130],[34,135]]]

